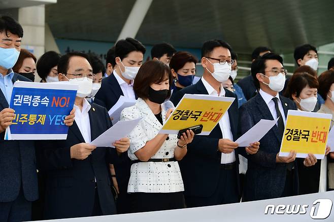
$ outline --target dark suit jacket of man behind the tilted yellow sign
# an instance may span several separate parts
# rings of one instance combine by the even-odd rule
[[[237,139],[238,128],[238,98],[224,89],[226,97],[233,97],[235,100],[228,109],[228,116],[231,125],[233,139]],[[177,104],[184,94],[205,94],[208,91],[202,81],[180,90],[173,101]],[[221,153],[217,151],[218,141],[222,138],[219,124],[208,136],[195,135],[192,142],[188,144],[187,155],[180,161],[180,169],[184,183],[184,194],[186,196],[210,197],[217,189],[219,182]],[[235,150],[236,163],[235,173],[239,179],[239,157],[238,149]],[[226,181],[228,182],[228,181]],[[239,187],[239,180],[237,181]],[[240,190],[240,189],[239,189]]]

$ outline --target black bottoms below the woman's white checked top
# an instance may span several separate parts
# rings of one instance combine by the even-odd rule
[[[184,208],[183,192],[131,193],[132,213]]]

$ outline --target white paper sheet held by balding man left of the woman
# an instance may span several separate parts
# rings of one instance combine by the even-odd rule
[[[100,147],[114,147],[113,143],[116,140],[128,136],[142,119],[143,118],[130,121],[118,121],[114,126],[99,135],[89,144]]]

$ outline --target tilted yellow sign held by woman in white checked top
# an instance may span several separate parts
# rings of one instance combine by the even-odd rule
[[[159,133],[178,134],[179,130],[203,125],[209,135],[235,98],[185,94]]]

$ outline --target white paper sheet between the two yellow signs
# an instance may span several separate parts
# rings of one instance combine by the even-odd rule
[[[268,131],[273,128],[279,118],[276,120],[260,120],[255,126],[250,128],[244,135],[236,140],[239,146],[249,146],[250,143],[259,141]]]

